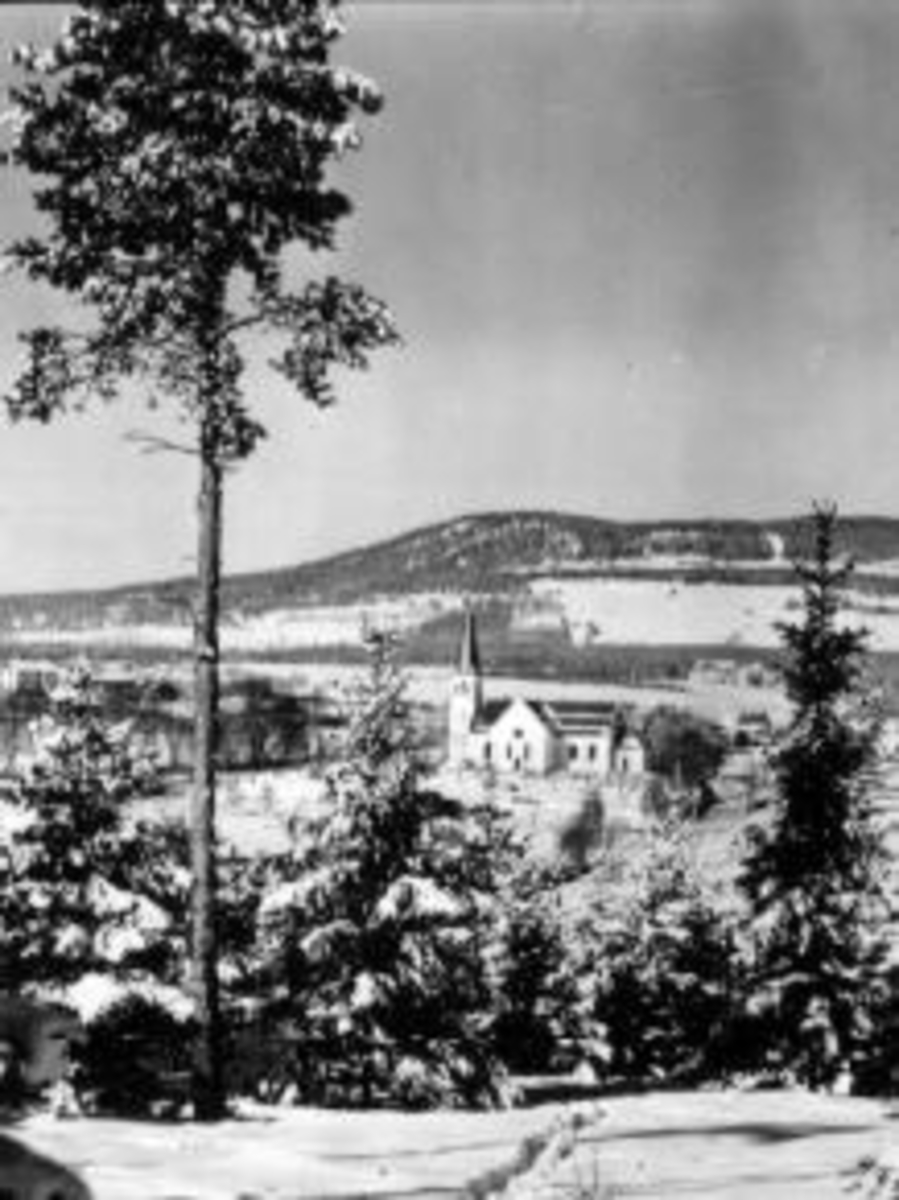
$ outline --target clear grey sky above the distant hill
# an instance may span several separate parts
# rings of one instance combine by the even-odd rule
[[[0,6],[0,54],[62,7]],[[334,260],[403,335],[270,438],[226,568],[496,509],[899,512],[899,0],[358,0],[336,58],[384,112],[335,170]],[[5,86],[10,70],[0,67]],[[34,221],[0,172],[2,234]],[[60,302],[0,278],[16,334]],[[0,427],[0,592],[182,574],[194,463],[136,398]]]

